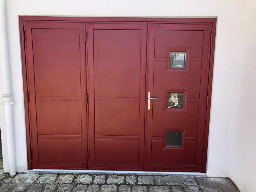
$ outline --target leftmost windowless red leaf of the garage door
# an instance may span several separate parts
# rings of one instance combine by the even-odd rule
[[[24,22],[32,168],[87,169],[84,22]]]

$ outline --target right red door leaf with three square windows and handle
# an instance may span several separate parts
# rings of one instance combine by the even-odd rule
[[[210,25],[148,26],[145,171],[201,172]]]

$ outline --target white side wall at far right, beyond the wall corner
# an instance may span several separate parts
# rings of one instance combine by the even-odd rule
[[[242,192],[256,191],[256,1],[244,1],[229,176]]]

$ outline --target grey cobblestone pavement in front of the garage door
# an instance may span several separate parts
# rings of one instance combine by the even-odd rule
[[[0,192],[208,192],[204,177],[188,175],[27,173],[10,177],[0,174]],[[205,177],[206,178],[206,177]],[[239,192],[228,178],[229,188],[220,186],[220,178],[210,178],[216,192]],[[216,180],[217,179],[217,180]],[[199,180],[199,181],[198,181]],[[198,182],[202,183],[201,186]],[[219,183],[218,183],[219,182]],[[206,185],[205,185],[206,184]],[[232,188],[233,187],[233,188]]]

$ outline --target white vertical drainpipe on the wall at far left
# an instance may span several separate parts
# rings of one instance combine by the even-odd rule
[[[6,33],[5,0],[0,0],[0,55],[3,76],[3,101],[6,126],[6,142],[8,152],[9,173],[11,176],[16,174],[15,151],[13,139],[12,123],[12,93],[9,69],[9,54]]]

